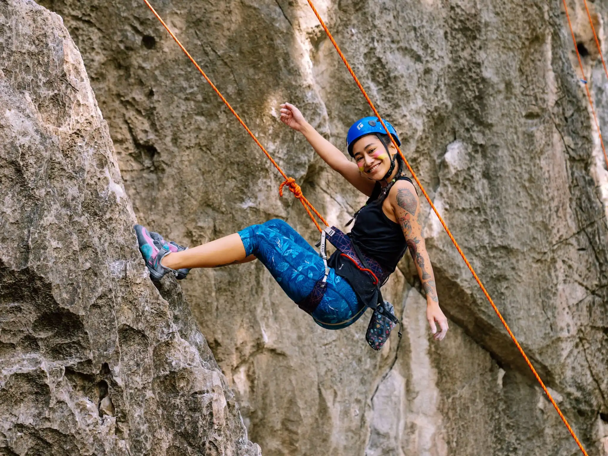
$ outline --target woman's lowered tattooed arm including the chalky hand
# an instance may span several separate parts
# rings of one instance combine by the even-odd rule
[[[407,247],[416,265],[418,277],[426,292],[426,318],[435,340],[443,340],[447,333],[447,319],[439,307],[435,275],[430,264],[429,254],[426,251],[422,227],[420,225],[420,203],[414,186],[407,181],[398,181],[389,193],[389,202],[395,213],[396,221],[401,225],[403,235],[406,237]],[[437,332],[437,325],[441,328]]]

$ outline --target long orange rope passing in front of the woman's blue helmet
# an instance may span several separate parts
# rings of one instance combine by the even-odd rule
[[[469,263],[469,260],[466,258],[464,252],[460,249],[460,246],[458,246],[458,243],[456,242],[456,240],[454,239],[454,236],[452,235],[452,233],[450,232],[449,228],[447,227],[446,223],[443,221],[443,218],[441,218],[441,215],[439,214],[437,208],[435,207],[435,205],[433,204],[433,202],[430,200],[429,195],[426,193],[426,190],[424,190],[423,185],[420,182],[420,179],[418,179],[418,176],[416,176],[416,173],[414,172],[414,170],[412,169],[412,167],[410,166],[409,162],[407,161],[406,157],[404,156],[404,154],[401,152],[401,149],[399,148],[399,146],[397,145],[397,143],[395,142],[395,138],[393,138],[392,134],[389,133],[389,129],[386,128],[386,125],[384,125],[384,121],[382,120],[382,117],[380,116],[380,114],[378,113],[378,110],[376,109],[376,107],[374,106],[374,104],[371,102],[370,97],[368,97],[367,92],[365,92],[365,89],[363,88],[363,86],[361,85],[361,82],[359,82],[359,78],[354,74],[353,69],[351,68],[350,64],[348,64],[348,61],[346,60],[346,58],[344,57],[344,54],[342,54],[342,51],[340,50],[340,47],[337,45],[336,40],[334,40],[333,36],[331,35],[330,30],[325,26],[325,22],[323,22],[323,19],[321,18],[321,16],[319,15],[319,12],[317,12],[317,9],[314,7],[314,4],[311,0],[306,0],[308,2],[308,4],[310,5],[311,9],[314,12],[314,15],[317,16],[317,19],[319,19],[319,23],[321,24],[321,26],[323,27],[323,30],[325,30],[325,33],[327,34],[328,38],[330,38],[331,43],[334,45],[334,47],[336,48],[338,54],[340,55],[340,58],[342,59],[342,61],[344,62],[345,66],[348,69],[348,72],[350,72],[350,75],[353,77],[355,83],[357,84],[357,86],[359,87],[359,90],[361,91],[361,93],[363,94],[363,96],[365,97],[365,100],[367,100],[368,105],[370,105],[371,110],[374,112],[374,115],[376,117],[378,117],[378,120],[382,123],[382,126],[384,127],[384,130],[389,134],[390,136],[390,140],[393,143],[393,145],[395,146],[396,150],[399,151],[399,155],[401,156],[402,160],[404,161],[404,163],[407,166],[407,169],[410,171],[410,173],[412,173],[412,177],[414,178],[414,180],[416,181],[416,184],[418,184],[418,187],[420,187],[420,190],[422,191],[422,193],[424,194],[424,197],[426,198],[426,200],[429,202],[430,207],[433,209],[433,212],[435,212],[435,215],[437,215],[437,218],[439,219],[439,221],[441,222],[441,225],[443,226],[444,230],[446,230],[447,235],[450,237],[450,239],[452,240],[452,243],[454,243],[454,246],[456,247],[456,249],[458,250],[458,253],[460,254],[460,256],[462,257],[462,259],[465,261],[466,266],[468,266],[469,271],[471,271],[471,274],[473,275],[473,277],[475,278],[475,281],[477,282],[477,285],[479,285],[479,288],[482,289],[483,294],[485,295],[486,299],[488,299],[488,302],[490,303],[490,305],[492,306],[492,308],[494,309],[494,312],[496,312],[497,316],[500,319],[500,322],[503,324],[503,326],[505,326],[505,329],[507,331],[507,333],[509,333],[509,336],[511,336],[511,339],[513,340],[514,344],[517,347],[517,350],[519,350],[519,353],[522,354],[523,359],[525,360],[526,364],[528,365],[528,367],[530,367],[530,370],[532,371],[532,373],[534,374],[534,377],[536,377],[536,380],[539,382],[539,384],[541,384],[542,389],[544,390],[545,394],[547,395],[547,398],[551,401],[551,404],[553,404],[553,407],[555,407],[555,410],[557,410],[559,417],[562,419],[562,421],[564,421],[565,426],[568,428],[568,431],[570,432],[570,434],[572,435],[572,437],[574,438],[574,440],[576,441],[576,444],[578,445],[578,447],[581,449],[582,453],[585,456],[587,455],[587,452],[585,451],[585,449],[582,447],[581,441],[578,440],[578,437],[576,437],[575,432],[572,430],[572,427],[570,427],[570,424],[568,424],[568,420],[566,420],[564,414],[562,413],[562,411],[559,409],[558,404],[556,404],[556,402],[553,399],[553,396],[551,396],[551,393],[548,391],[547,387],[545,386],[544,382],[541,380],[541,377],[538,375],[538,373],[536,372],[536,369],[534,368],[534,366],[532,365],[532,363],[530,362],[530,359],[528,359],[528,356],[525,354],[525,351],[523,351],[523,348],[521,347],[521,345],[519,345],[519,342],[517,342],[516,337],[514,336],[513,332],[511,331],[511,328],[509,328],[509,325],[506,323],[505,319],[503,318],[502,314],[500,313],[499,309],[497,308],[496,304],[494,304],[494,301],[492,300],[492,298],[490,297],[490,295],[488,294],[488,291],[486,291],[485,286],[483,286],[482,281],[480,280],[480,278],[477,276],[477,273],[475,272],[475,270],[473,269],[473,267],[471,266],[471,263]],[[564,0],[565,2],[565,0]]]

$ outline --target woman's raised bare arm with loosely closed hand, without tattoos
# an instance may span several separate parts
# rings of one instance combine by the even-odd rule
[[[289,128],[302,133],[310,145],[313,146],[314,151],[319,154],[326,164],[330,165],[331,169],[340,173],[359,192],[367,196],[371,195],[375,181],[362,177],[357,165],[348,160],[338,148],[306,122],[298,108],[291,103],[283,103],[281,105],[281,120]]]

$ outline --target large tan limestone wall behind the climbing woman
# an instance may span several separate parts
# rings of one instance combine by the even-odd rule
[[[195,245],[280,217],[315,240],[143,2],[42,3],[83,52],[142,223]],[[608,187],[561,2],[317,3],[587,450],[608,454]],[[607,5],[589,3],[603,40]],[[608,81],[582,2],[568,5],[606,125]],[[363,199],[278,122],[289,100],[344,148],[348,126],[370,114],[306,2],[154,6],[317,209],[344,226]],[[451,319],[441,344],[407,258],[386,292],[404,337],[381,353],[364,342],[367,318],[318,328],[261,264],[190,274],[185,294],[266,455],[576,453],[434,215],[425,235]]]

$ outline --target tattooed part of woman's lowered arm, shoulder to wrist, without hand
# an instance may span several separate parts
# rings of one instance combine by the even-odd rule
[[[395,215],[401,225],[403,235],[406,237],[407,247],[416,265],[416,271],[418,271],[420,282],[424,292],[426,292],[427,301],[430,299],[438,302],[433,267],[430,264],[429,254],[426,251],[426,244],[424,244],[422,236],[418,195],[407,187],[398,188]]]

